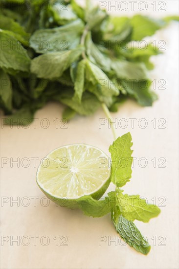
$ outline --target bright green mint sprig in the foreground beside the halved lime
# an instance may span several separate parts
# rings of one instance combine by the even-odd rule
[[[142,254],[148,254],[150,245],[147,238],[142,236],[135,226],[135,220],[148,223],[160,213],[160,209],[154,204],[148,204],[139,195],[123,194],[119,186],[124,186],[132,175],[132,153],[133,143],[130,133],[118,137],[110,146],[112,158],[111,181],[116,185],[115,191],[108,193],[108,196],[95,200],[90,196],[80,198],[78,208],[85,215],[92,217],[102,217],[109,212],[112,214],[112,222],[116,231],[122,239],[135,250]],[[125,160],[122,164],[122,160]],[[126,166],[126,160],[130,160]]]

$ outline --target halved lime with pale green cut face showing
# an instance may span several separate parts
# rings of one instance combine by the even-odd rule
[[[50,152],[37,171],[37,183],[53,201],[99,199],[110,184],[109,157],[86,144],[67,145]]]

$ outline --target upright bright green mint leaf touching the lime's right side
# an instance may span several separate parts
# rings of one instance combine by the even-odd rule
[[[132,175],[132,137],[130,133],[118,137],[110,146],[112,158],[112,182],[118,186],[124,186]]]

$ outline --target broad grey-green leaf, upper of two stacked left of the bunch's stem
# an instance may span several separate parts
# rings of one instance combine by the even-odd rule
[[[30,37],[30,46],[38,53],[75,48],[80,44],[83,29],[84,23],[80,19],[61,27],[40,29]]]

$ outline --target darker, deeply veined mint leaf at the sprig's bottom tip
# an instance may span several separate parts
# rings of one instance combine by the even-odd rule
[[[149,253],[151,246],[144,236],[141,235],[135,224],[128,221],[121,214],[118,222],[114,221],[114,226],[122,239],[130,246],[134,247],[137,251],[146,255]]]

